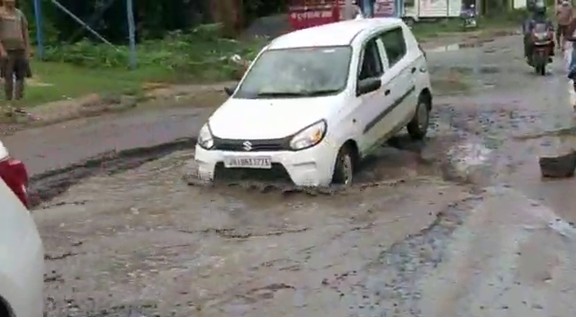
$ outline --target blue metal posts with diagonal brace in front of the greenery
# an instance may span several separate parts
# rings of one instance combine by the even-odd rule
[[[126,19],[128,21],[128,38],[130,40],[130,68],[133,69],[133,68],[136,68],[136,62],[137,62],[137,60],[136,60],[136,25],[134,23],[134,8],[133,8],[132,0],[124,0],[124,1],[126,1]],[[50,2],[52,3],[52,5],[55,5],[62,12],[64,12],[65,14],[70,16],[72,19],[74,19],[74,21],[76,21],[76,23],[82,25],[82,27],[84,27],[86,31],[94,34],[94,36],[97,37],[100,41],[103,41],[104,43],[114,47],[114,45],[110,41],[106,40],[98,32],[95,32],[94,29],[92,27],[90,27],[90,25],[88,23],[85,23],[84,21],[82,21],[82,19],[78,18],[75,14],[70,12],[66,8],[66,6],[60,4],[58,2],[58,0],[50,0]],[[42,32],[42,4],[41,3],[42,3],[42,0],[34,0],[34,15],[36,18],[36,41],[38,43],[38,57],[40,59],[43,59],[43,57],[44,57],[44,34]],[[108,6],[112,5],[112,3],[113,3],[113,0],[110,2],[110,4]]]

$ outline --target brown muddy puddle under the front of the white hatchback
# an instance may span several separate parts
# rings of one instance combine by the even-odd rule
[[[213,182],[204,182],[187,175],[184,181],[190,186],[215,188],[238,188],[240,191],[281,195],[347,195],[369,188],[396,186],[408,182],[443,181],[443,166],[450,164],[446,159],[447,149],[455,140],[449,137],[434,137],[426,142],[411,140],[408,135],[392,138],[370,157],[364,159],[356,171],[355,184],[342,186],[300,187],[294,186],[284,170],[241,170],[217,167]],[[190,166],[188,168],[193,168]]]

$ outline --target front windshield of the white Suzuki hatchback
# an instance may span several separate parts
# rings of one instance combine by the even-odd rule
[[[254,62],[235,98],[333,95],[347,85],[349,46],[266,50]]]

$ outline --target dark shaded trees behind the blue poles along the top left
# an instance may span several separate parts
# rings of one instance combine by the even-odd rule
[[[49,42],[75,42],[92,38],[80,24],[59,10],[51,0],[40,0],[42,27]],[[212,23],[211,5],[221,0],[132,0],[139,40],[157,39],[167,32],[187,30],[203,23]],[[226,1],[226,0],[224,0]],[[284,10],[286,0],[231,0],[240,5],[243,23],[250,23],[257,16]],[[21,8],[33,19],[33,1],[21,0]],[[126,0],[58,0],[70,12],[114,43],[127,41]],[[33,26],[32,25],[32,26]],[[35,29],[31,29],[35,33]]]

